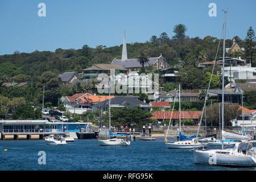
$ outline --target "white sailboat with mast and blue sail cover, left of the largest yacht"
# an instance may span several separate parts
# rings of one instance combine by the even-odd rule
[[[176,93],[177,96],[177,93]],[[174,102],[174,106],[175,106],[175,102]],[[174,111],[174,106],[172,107],[172,113]],[[171,114],[171,119],[172,119],[172,114]],[[169,122],[169,126],[171,123],[171,119]],[[180,119],[180,85],[179,85],[179,125],[180,125],[180,129],[179,129],[179,139],[181,140],[181,119]],[[169,127],[168,127],[169,130]],[[207,147],[207,144],[202,144],[200,143],[198,140],[196,140],[195,138],[193,138],[192,140],[183,140],[183,141],[177,141],[174,143],[168,143],[167,140],[167,135],[168,135],[168,130],[167,130],[167,134],[166,134],[166,139],[165,139],[165,144],[167,145],[168,148],[183,148],[183,149],[193,149],[193,148],[204,148]],[[189,138],[194,137],[194,136],[189,136]]]

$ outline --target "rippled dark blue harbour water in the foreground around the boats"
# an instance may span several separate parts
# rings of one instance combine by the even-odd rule
[[[44,140],[0,140],[0,170],[256,170],[194,164],[193,151],[168,149],[163,141],[137,140],[127,147],[105,147],[96,139],[75,140],[65,146],[48,146]],[[38,164],[39,151],[46,152],[46,165]]]

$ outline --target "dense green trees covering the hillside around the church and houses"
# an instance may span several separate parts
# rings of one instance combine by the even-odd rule
[[[177,84],[181,84],[183,89],[205,88],[209,83],[212,67],[201,70],[199,63],[212,61],[216,56],[219,39],[213,36],[205,38],[189,38],[185,35],[187,27],[184,24],[177,24],[174,27],[175,36],[168,37],[167,32],[162,32],[159,36],[152,35],[144,43],[127,43],[127,55],[129,58],[138,57],[159,57],[164,56],[170,68],[180,68],[176,74],[177,79],[174,84],[164,82],[162,76],[159,76],[159,84],[164,90],[175,89]],[[229,56],[241,56],[246,59],[247,63],[251,61],[255,65],[255,34],[252,27],[247,31],[245,40],[238,36],[234,37],[240,47],[245,48],[245,52],[229,52]],[[232,39],[226,40],[226,47],[231,47]],[[222,44],[217,57],[222,56]],[[141,56],[144,52],[147,56]],[[104,45],[96,48],[89,47],[87,44],[80,49],[62,49],[57,48],[51,51],[34,51],[32,53],[19,52],[18,50],[12,55],[0,55],[0,96],[1,103],[6,99],[22,97],[24,101],[34,106],[42,106],[43,86],[45,87],[44,102],[52,102],[53,106],[57,105],[58,98],[61,96],[71,96],[74,93],[89,92],[94,81],[86,84],[77,83],[71,87],[62,87],[61,82],[57,79],[63,72],[81,73],[82,69],[91,67],[93,64],[103,63],[110,64],[116,57],[121,59],[122,44],[114,47]],[[141,64],[146,64],[146,59],[141,59]],[[182,63],[182,64],[181,64]],[[217,72],[220,68],[214,69],[211,88],[221,85]],[[152,67],[145,67],[139,70],[140,73],[159,73]],[[2,86],[3,82],[24,82],[26,86]],[[141,100],[148,100],[147,94],[137,94]],[[254,107],[254,95],[245,96],[248,105]],[[251,101],[252,100],[252,101]],[[0,103],[0,105],[1,105]],[[250,103],[250,104],[249,104]],[[1,106],[1,113],[6,113],[4,104]],[[9,107],[7,108],[9,109]]]

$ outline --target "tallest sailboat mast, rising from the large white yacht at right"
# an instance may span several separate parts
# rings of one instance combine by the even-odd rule
[[[224,68],[225,68],[225,38],[226,38],[226,11],[224,11],[224,37],[223,37],[223,59],[222,59],[222,130],[224,130]],[[222,149],[223,149],[222,140]]]

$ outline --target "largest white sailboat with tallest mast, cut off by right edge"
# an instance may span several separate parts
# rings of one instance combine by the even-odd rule
[[[195,150],[195,164],[214,164],[222,166],[256,166],[255,144],[256,141],[246,141],[249,138],[224,131],[224,65],[225,65],[225,31],[226,31],[226,11],[224,18],[224,46],[223,46],[223,68],[222,68],[222,148],[216,150]],[[216,60],[215,60],[216,61]],[[213,66],[214,69],[214,66]],[[210,83],[209,83],[210,85]],[[209,87],[208,87],[209,91]],[[207,91],[207,92],[208,92]],[[205,108],[205,105],[204,105]],[[200,121],[201,124],[201,121]],[[200,125],[199,125],[200,127]],[[233,148],[224,149],[225,139],[239,139],[246,142],[236,143]]]

